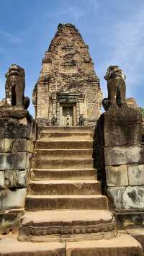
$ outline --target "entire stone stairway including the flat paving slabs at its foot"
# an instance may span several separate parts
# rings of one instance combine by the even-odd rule
[[[93,136],[91,127],[40,128],[18,241],[0,241],[0,256],[143,255],[117,232],[96,179]]]

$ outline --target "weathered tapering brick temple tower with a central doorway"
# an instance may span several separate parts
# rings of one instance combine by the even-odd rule
[[[59,24],[33,92],[40,125],[94,125],[100,115],[102,91],[89,47],[71,24]]]

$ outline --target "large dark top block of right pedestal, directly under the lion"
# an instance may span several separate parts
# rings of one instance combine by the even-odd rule
[[[119,108],[104,112],[99,118],[100,144],[132,146],[142,141],[142,114],[139,110]],[[100,131],[102,130],[102,131]]]

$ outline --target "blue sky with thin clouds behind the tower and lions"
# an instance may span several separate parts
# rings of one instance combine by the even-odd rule
[[[30,98],[41,60],[59,23],[73,23],[81,32],[95,64],[104,97],[107,67],[118,64],[127,76],[127,97],[144,107],[143,0],[5,0],[0,9],[0,98],[6,70],[17,63],[26,71]],[[34,113],[32,104],[31,114]]]

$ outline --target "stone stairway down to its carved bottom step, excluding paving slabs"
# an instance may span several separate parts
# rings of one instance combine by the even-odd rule
[[[35,146],[20,241],[117,236],[94,169],[94,128],[43,127]]]

